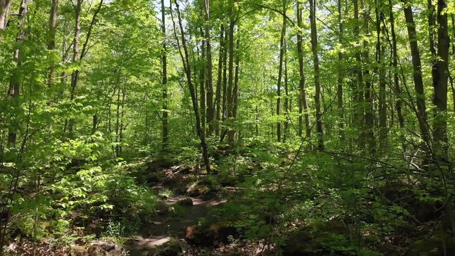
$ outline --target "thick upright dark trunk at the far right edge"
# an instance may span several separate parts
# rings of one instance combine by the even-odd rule
[[[433,104],[436,106],[434,112],[434,149],[437,158],[441,161],[448,161],[449,145],[447,137],[447,85],[449,71],[449,25],[447,14],[444,10],[447,7],[446,0],[437,0],[437,21],[438,21],[438,42],[437,42],[437,79],[434,84]]]

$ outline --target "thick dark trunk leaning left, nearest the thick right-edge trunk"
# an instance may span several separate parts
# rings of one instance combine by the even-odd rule
[[[422,80],[421,69],[422,63],[420,61],[419,46],[417,45],[417,33],[415,31],[414,15],[412,14],[410,5],[406,5],[404,11],[412,55],[412,75],[414,78],[414,88],[416,92],[417,119],[419,121],[419,128],[420,132],[422,133],[422,139],[424,139],[424,150],[429,153],[429,150],[431,149],[431,142],[429,136],[429,127],[427,124],[427,107],[425,104],[424,82]]]

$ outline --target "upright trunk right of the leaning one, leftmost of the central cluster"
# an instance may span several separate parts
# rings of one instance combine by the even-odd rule
[[[212,63],[212,46],[210,38],[210,0],[204,0],[205,11],[205,45],[207,50],[207,123],[208,123],[208,136],[213,135],[215,124],[213,122],[214,108],[213,105],[213,63]]]

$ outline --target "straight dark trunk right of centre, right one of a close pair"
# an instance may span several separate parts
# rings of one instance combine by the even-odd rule
[[[316,132],[318,133],[318,149],[324,149],[322,112],[321,112],[321,82],[319,80],[318,32],[316,30],[316,0],[310,1],[311,51],[313,52],[314,85],[316,92]]]

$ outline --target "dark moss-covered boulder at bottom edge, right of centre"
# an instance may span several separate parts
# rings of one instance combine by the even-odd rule
[[[354,249],[349,237],[349,230],[341,221],[318,222],[291,231],[282,250],[289,256],[338,255]]]

